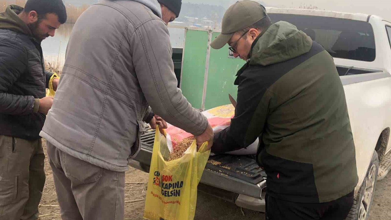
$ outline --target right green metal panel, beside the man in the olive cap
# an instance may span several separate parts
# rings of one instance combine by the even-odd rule
[[[213,33],[212,39],[215,39],[217,35],[219,33]],[[228,55],[228,45],[222,49],[210,51],[205,109],[229,104],[228,94],[236,99],[237,86],[233,85],[233,82],[236,79],[236,73],[246,62],[241,59],[228,58]]]

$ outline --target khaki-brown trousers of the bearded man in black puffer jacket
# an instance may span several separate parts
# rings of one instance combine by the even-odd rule
[[[45,185],[41,139],[0,135],[0,220],[36,220]]]

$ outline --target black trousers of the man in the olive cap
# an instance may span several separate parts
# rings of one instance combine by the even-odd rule
[[[354,191],[325,203],[297,203],[266,195],[266,220],[344,220],[353,206]]]

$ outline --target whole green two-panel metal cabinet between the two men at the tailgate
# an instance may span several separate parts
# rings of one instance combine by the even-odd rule
[[[218,34],[207,29],[185,29],[180,88],[194,108],[201,110],[229,104],[228,94],[236,98],[233,82],[245,64],[229,56],[228,45],[220,50],[210,47]]]

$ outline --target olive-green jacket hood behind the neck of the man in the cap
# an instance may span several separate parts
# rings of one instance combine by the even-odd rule
[[[310,51],[312,40],[288,22],[272,24],[251,49],[250,65],[271,65],[291,60]]]

